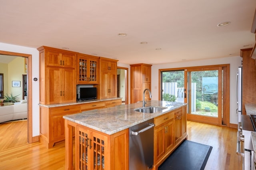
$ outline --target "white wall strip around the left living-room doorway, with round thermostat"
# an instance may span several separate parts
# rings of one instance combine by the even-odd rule
[[[33,81],[36,77],[39,79],[39,52],[36,48],[23,47],[19,45],[12,45],[6,43],[0,43],[0,50],[10,51],[15,53],[24,53],[32,55],[32,76],[29,79],[32,80],[32,136],[39,135],[39,82]]]

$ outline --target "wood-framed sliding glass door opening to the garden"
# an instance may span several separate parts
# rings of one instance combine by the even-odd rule
[[[188,103],[187,119],[230,126],[230,65],[160,69],[160,100]]]

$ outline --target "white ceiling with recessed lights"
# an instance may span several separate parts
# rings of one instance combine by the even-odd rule
[[[253,47],[255,8],[256,0],[0,0],[0,42],[126,64],[238,56]]]

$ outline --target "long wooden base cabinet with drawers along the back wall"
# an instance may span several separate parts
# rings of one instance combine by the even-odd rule
[[[52,148],[54,143],[65,139],[63,116],[121,105],[121,100],[112,99],[51,108],[40,106],[40,142],[47,148]]]

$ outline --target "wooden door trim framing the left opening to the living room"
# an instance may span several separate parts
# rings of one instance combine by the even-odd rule
[[[1,50],[0,54],[25,57],[27,59],[27,142],[36,142],[38,141],[38,137],[33,138],[32,136],[32,79],[29,78],[32,75],[32,55]]]

